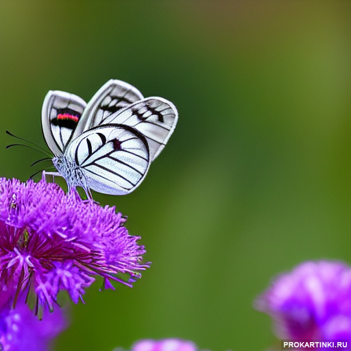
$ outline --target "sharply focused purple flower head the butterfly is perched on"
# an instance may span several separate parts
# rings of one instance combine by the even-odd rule
[[[0,301],[16,304],[26,291],[52,311],[59,291],[77,303],[96,275],[106,289],[114,289],[112,280],[132,286],[149,265],[125,221],[114,207],[65,194],[57,184],[0,178]]]

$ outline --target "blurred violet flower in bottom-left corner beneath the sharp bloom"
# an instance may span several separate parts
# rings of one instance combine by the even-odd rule
[[[66,328],[62,309],[43,311],[41,320],[29,309],[23,298],[16,308],[6,306],[0,310],[0,350],[46,351],[54,337]]]

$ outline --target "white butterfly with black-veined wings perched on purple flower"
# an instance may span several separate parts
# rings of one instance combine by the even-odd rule
[[[134,86],[109,80],[86,102],[51,90],[42,109],[45,141],[69,191],[81,186],[110,195],[131,193],[144,180],[178,121],[162,97],[144,98]]]

